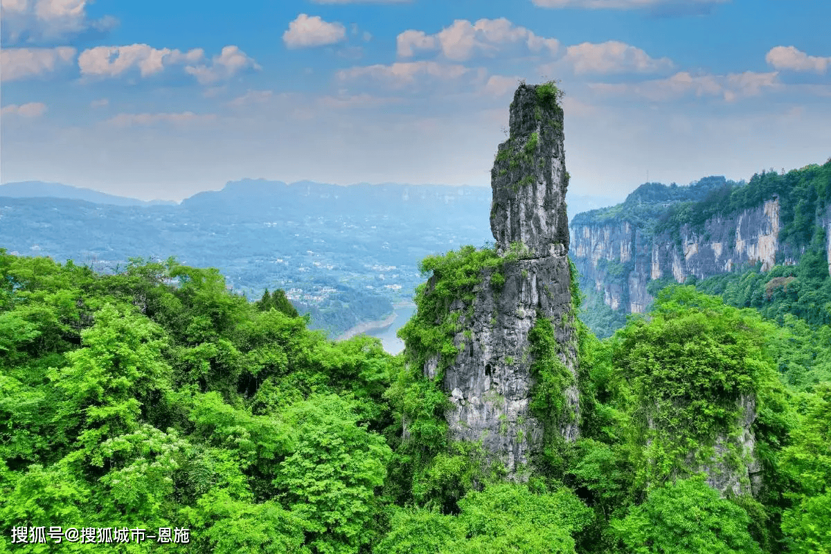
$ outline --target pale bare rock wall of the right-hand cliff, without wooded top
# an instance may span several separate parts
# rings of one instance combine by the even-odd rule
[[[820,169],[828,166],[826,163]],[[806,169],[791,173],[799,171]],[[826,170],[816,179],[828,180],[827,175]],[[717,196],[718,190],[705,187],[697,195],[688,195],[686,204],[658,199],[647,205],[641,198],[633,198],[636,191],[626,203],[616,207],[578,214],[573,218],[570,233],[581,287],[596,293],[614,311],[643,313],[653,300],[647,288],[651,281],[683,283],[691,277],[701,280],[757,263],[763,272],[777,264],[794,265],[808,248],[809,237],[801,242],[783,241],[781,235],[794,227],[799,208],[805,202],[787,194],[787,180],[780,180],[775,188],[784,194],[760,190],[764,185],[751,179],[744,189],[748,189],[748,196],[755,194],[760,199],[742,209],[729,209],[730,185],[725,184],[723,190],[728,192],[721,195],[727,208],[724,212],[715,200],[707,201],[708,195]],[[815,188],[828,190],[829,185],[820,183]],[[733,184],[732,189],[740,189],[740,185]],[[696,213],[701,207],[708,210],[709,217]],[[824,205],[822,198],[812,199],[809,208],[814,208],[814,213],[802,214],[809,221],[801,224],[809,229],[808,235],[813,233],[812,226],[825,229],[823,247],[831,274],[831,203]],[[784,210],[788,211],[787,218]]]

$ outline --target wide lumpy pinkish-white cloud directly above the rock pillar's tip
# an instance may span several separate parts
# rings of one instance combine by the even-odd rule
[[[440,50],[449,60],[465,61],[477,54],[493,56],[508,45],[524,45],[529,51],[554,54],[559,42],[554,38],[539,37],[529,29],[499,17],[479,19],[475,23],[457,19],[450,27],[433,35],[410,29],[398,35],[396,45],[401,57],[413,56],[419,50]]]

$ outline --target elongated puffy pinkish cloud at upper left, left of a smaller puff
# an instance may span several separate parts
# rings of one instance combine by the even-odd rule
[[[164,71],[171,64],[198,61],[204,56],[201,48],[182,52],[170,48],[154,48],[146,44],[130,44],[123,47],[94,47],[81,52],[78,66],[81,74],[98,77],[117,77],[133,67],[141,76]]]

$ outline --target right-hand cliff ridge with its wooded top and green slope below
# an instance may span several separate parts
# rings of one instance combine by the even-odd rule
[[[645,184],[626,202],[580,213],[571,255],[598,336],[645,311],[668,283],[700,285],[735,306],[831,322],[831,159],[748,183]]]

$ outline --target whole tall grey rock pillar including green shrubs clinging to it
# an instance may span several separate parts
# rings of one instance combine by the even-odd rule
[[[522,84],[514,94],[509,139],[499,145],[491,184],[494,251],[471,248],[432,262],[415,322],[402,336],[411,360],[449,396],[450,439],[480,440],[491,461],[523,479],[548,439],[578,435],[568,173],[553,84]],[[470,276],[462,284],[460,267]],[[453,295],[442,300],[448,290]],[[448,348],[419,355],[430,342],[418,326],[446,330]],[[538,395],[542,380],[558,390]]]

